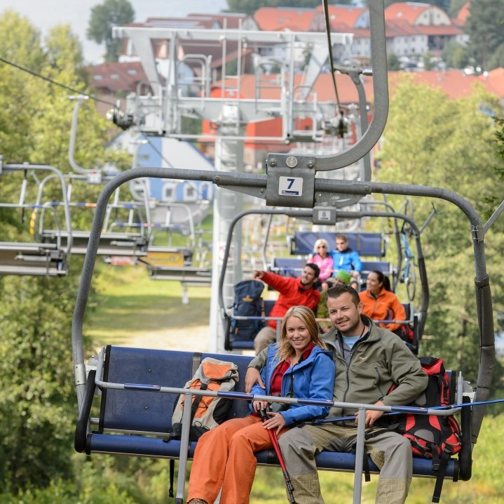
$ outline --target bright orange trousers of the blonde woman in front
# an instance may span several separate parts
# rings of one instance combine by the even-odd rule
[[[283,427],[280,435],[287,430]],[[212,504],[222,488],[221,504],[248,504],[257,467],[254,452],[271,448],[257,415],[233,418],[205,432],[194,452],[187,501]]]

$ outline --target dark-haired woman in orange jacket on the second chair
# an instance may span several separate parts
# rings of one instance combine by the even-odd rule
[[[406,312],[400,300],[390,291],[390,281],[381,271],[367,275],[365,291],[359,293],[362,313],[373,320],[406,320]],[[402,324],[382,322],[378,324],[389,331],[399,331]]]

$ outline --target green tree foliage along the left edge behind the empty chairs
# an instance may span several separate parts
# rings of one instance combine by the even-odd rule
[[[87,91],[79,67],[81,46],[67,26],[51,30],[45,48],[38,32],[13,12],[0,16],[0,31],[5,34],[0,52],[6,59]],[[69,91],[1,65],[0,153],[4,164],[48,164],[67,173],[73,109]],[[82,119],[86,128],[79,133],[76,158],[92,168],[105,157],[109,127],[94,102],[83,107]],[[126,159],[124,154],[114,155]],[[3,201],[19,198],[22,177],[15,175],[1,175]],[[27,201],[35,190],[29,187]],[[60,198],[61,192],[52,196],[49,201],[60,201],[55,197]],[[1,239],[32,241],[27,221],[29,214],[23,218],[22,211],[2,208]],[[64,278],[0,277],[0,488],[14,494],[22,488],[46,486],[52,479],[73,477],[76,398],[69,342],[81,261],[72,256],[70,265]]]

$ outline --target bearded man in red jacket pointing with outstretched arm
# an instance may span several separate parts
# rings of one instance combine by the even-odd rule
[[[254,271],[254,279],[262,280],[280,293],[275,305],[271,308],[270,317],[282,318],[291,306],[304,305],[315,310],[320,300],[320,291],[315,288],[320,268],[316,264],[307,264],[301,277],[282,277],[280,274],[267,271]],[[259,354],[269,343],[276,340],[276,320],[268,320],[265,327],[254,338],[254,350]]]

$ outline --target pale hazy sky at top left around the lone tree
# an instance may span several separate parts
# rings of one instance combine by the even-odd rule
[[[12,9],[25,16],[39,29],[42,36],[54,25],[68,23],[72,32],[83,44],[84,59],[97,62],[104,53],[86,39],[91,8],[104,0],[0,0],[0,15]],[[129,0],[135,11],[135,21],[142,22],[151,16],[184,17],[189,13],[217,13],[227,8],[226,0]]]

